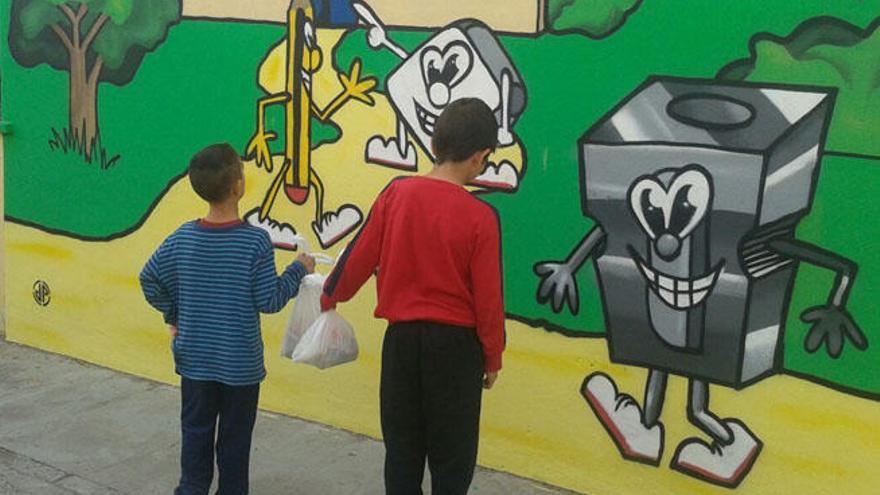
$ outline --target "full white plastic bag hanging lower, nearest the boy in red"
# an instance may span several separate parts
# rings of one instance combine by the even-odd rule
[[[336,310],[322,313],[306,330],[293,351],[293,360],[319,369],[339,366],[357,359],[354,329]]]

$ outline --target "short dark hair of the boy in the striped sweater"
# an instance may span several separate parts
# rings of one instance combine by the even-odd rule
[[[189,162],[189,180],[202,199],[218,203],[229,197],[232,185],[241,178],[241,158],[226,143],[212,144]]]

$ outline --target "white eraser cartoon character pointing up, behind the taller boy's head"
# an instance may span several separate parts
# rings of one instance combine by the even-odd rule
[[[401,59],[386,80],[396,114],[397,134],[390,139],[372,137],[366,146],[366,161],[415,171],[418,159],[409,136],[433,160],[431,137],[437,117],[457,99],[479,98],[495,112],[499,150],[472,185],[516,189],[523,174],[524,157],[521,147],[516,145],[513,126],[525,110],[526,89],[489,27],[474,19],[456,21],[407,53],[388,39],[384,25],[369,6],[362,2],[352,6],[369,27],[370,46],[384,47]]]

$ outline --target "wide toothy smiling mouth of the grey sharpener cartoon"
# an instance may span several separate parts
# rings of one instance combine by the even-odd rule
[[[679,310],[690,309],[705,301],[715,288],[725,265],[725,261],[721,260],[706,275],[691,279],[678,278],[651,268],[632,246],[629,246],[629,251],[654,294],[667,306]]]

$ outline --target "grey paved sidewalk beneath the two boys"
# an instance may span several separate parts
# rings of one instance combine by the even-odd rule
[[[0,340],[0,494],[170,494],[179,401],[174,387]],[[251,493],[382,494],[383,456],[375,440],[261,412]],[[480,469],[470,493],[570,492]]]

